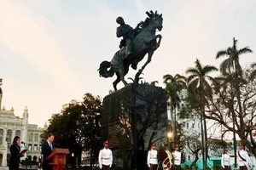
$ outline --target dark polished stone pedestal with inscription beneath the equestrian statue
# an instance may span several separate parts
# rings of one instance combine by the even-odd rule
[[[107,95],[103,107],[101,139],[108,139],[113,164],[124,170],[146,169],[149,145],[166,143],[164,89],[129,84]]]

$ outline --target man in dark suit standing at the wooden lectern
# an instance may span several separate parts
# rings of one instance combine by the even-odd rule
[[[53,141],[55,136],[53,133],[49,133],[47,140],[42,144],[42,155],[43,155],[43,170],[52,170],[52,166],[49,165],[51,159],[46,160],[47,156],[51,154],[52,149],[54,148]]]

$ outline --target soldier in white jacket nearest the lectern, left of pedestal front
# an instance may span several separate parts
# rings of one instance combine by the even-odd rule
[[[102,170],[109,170],[113,163],[112,151],[108,149],[108,140],[103,144],[104,148],[99,153],[99,166]]]

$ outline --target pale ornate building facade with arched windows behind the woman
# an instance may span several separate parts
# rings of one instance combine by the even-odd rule
[[[38,127],[35,124],[28,123],[28,109],[25,108],[23,116],[15,116],[14,108],[9,111],[1,107],[3,90],[1,88],[2,79],[0,79],[0,166],[7,166],[9,162],[9,146],[13,143],[15,136],[20,136],[20,148],[28,149],[24,157],[31,161],[39,161],[41,156],[41,134],[47,128]],[[41,156],[41,157],[40,157]]]

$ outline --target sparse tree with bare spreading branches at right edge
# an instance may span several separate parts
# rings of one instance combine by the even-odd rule
[[[253,140],[256,122],[256,81],[249,78],[252,71],[241,72],[239,80],[234,76],[236,73],[233,73],[218,78],[213,84],[215,95],[208,100],[206,117],[224,126],[226,131],[238,134],[241,142],[245,143],[247,149],[256,156],[256,144]],[[239,91],[236,90],[234,82],[239,82]]]

